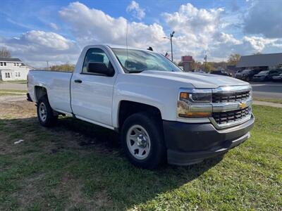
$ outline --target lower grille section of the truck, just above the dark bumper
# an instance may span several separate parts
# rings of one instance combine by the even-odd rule
[[[231,110],[226,112],[212,113],[212,117],[217,124],[226,124],[242,120],[250,114],[250,108],[243,108],[239,110]]]

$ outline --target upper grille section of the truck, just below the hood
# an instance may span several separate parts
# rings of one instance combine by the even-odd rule
[[[212,102],[213,103],[227,103],[235,101],[244,101],[250,97],[250,91],[238,91],[232,93],[213,93]]]

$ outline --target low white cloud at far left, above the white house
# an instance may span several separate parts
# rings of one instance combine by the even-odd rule
[[[35,67],[49,64],[76,63],[79,48],[74,41],[54,32],[29,31],[20,37],[0,38],[0,46],[7,46],[14,57]]]

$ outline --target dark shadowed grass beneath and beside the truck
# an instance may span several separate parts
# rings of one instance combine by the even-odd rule
[[[68,117],[48,129],[35,117],[2,119],[0,139],[0,210],[142,207],[154,204],[159,193],[201,177],[222,159],[143,170],[126,160],[116,132]],[[25,141],[13,144],[18,139]]]

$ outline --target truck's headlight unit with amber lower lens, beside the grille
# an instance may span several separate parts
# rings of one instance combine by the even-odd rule
[[[180,89],[178,117],[199,118],[212,116],[212,89]]]

